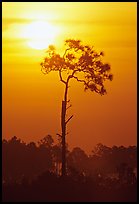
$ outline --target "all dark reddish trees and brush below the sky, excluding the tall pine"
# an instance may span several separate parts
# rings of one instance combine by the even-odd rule
[[[67,150],[67,176],[61,177],[60,141],[47,135],[26,144],[13,137],[2,141],[3,202],[135,202],[136,169],[136,146],[98,144],[90,155]]]

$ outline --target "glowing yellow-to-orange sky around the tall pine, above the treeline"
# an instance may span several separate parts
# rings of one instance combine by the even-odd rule
[[[39,32],[38,21],[49,26]],[[44,37],[46,44],[52,41],[59,52],[66,38],[94,45],[97,51],[104,51],[104,61],[114,75],[114,80],[106,83],[108,94],[104,96],[84,92],[81,84],[72,81],[69,98],[74,117],[68,126],[69,147],[91,151],[99,142],[135,145],[137,3],[2,3],[3,138],[16,135],[29,142],[47,134],[56,138],[60,133],[64,86],[56,73],[41,73],[44,50],[30,47],[31,43],[36,46],[37,34],[39,44]]]

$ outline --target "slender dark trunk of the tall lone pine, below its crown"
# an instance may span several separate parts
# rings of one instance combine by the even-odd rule
[[[66,175],[66,105],[68,82],[66,83],[64,101],[62,101],[61,128],[62,128],[62,176]]]

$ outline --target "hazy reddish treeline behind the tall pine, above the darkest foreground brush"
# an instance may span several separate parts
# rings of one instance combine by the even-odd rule
[[[133,183],[136,168],[136,146],[107,147],[97,144],[90,155],[80,147],[75,147],[72,151],[67,148],[68,175],[79,173],[92,178],[120,178]],[[20,183],[23,178],[31,181],[46,171],[61,175],[61,141],[55,144],[51,135],[37,144],[26,144],[16,136],[2,141],[3,183]]]

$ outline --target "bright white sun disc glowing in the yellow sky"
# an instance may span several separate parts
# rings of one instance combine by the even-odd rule
[[[28,24],[22,33],[27,44],[33,49],[46,49],[53,44],[59,33],[58,27],[45,21],[35,21]]]

